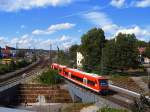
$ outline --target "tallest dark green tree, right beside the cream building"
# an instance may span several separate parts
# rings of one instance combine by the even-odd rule
[[[102,48],[105,43],[104,31],[93,28],[81,37],[81,42],[83,69],[88,72],[100,71]]]

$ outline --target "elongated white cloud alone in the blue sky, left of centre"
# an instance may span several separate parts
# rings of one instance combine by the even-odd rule
[[[51,25],[46,30],[39,30],[39,29],[34,30],[32,32],[32,34],[34,34],[34,35],[48,35],[48,34],[52,34],[52,33],[55,33],[57,31],[60,31],[60,30],[70,29],[74,26],[75,26],[75,24],[71,24],[71,23],[55,24],[55,25]]]

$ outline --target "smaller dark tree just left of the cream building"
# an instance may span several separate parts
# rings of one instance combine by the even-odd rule
[[[71,67],[76,67],[76,59],[77,59],[77,49],[79,48],[79,45],[72,45],[69,48],[69,57],[70,57],[70,66]]]

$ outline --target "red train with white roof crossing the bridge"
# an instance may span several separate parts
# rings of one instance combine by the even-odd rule
[[[108,79],[105,77],[82,72],[77,69],[71,69],[56,63],[53,63],[51,68],[58,70],[59,75],[90,90],[98,93],[106,93],[108,91]]]

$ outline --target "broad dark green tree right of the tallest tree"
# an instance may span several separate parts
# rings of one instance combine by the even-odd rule
[[[118,34],[103,49],[103,66],[107,69],[124,70],[138,67],[138,51],[134,34]]]

